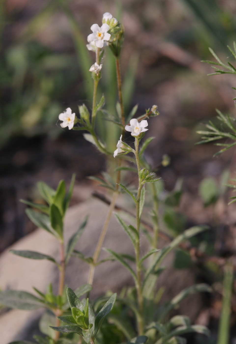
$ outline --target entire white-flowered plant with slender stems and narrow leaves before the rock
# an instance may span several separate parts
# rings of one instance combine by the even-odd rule
[[[167,246],[162,248],[159,246],[159,199],[157,182],[160,178],[158,178],[152,166],[145,159],[145,150],[154,138],[149,137],[142,142],[148,130],[147,119],[159,115],[159,112],[157,105],[153,105],[151,110],[146,110],[146,113],[138,118],[134,118],[138,110],[137,107],[132,109],[129,116],[125,114],[119,63],[124,29],[110,13],[104,13],[102,22],[103,24],[101,26],[93,24],[91,26],[93,33],[87,37],[89,42],[87,44],[88,50],[96,53],[96,61],[89,69],[94,80],[92,114],[90,115],[88,108],[83,104],[79,106],[78,116],[75,113],[72,114],[70,108],[67,108],[65,112],[59,115],[59,120],[62,121],[61,127],[68,127],[69,130],[87,131],[84,134],[86,140],[93,143],[101,153],[106,154],[110,158],[112,158],[112,155],[116,158],[117,168],[115,170],[115,181],[110,176],[107,178],[106,175],[104,180],[92,177],[92,179],[99,180],[101,186],[112,190],[108,214],[101,230],[94,255],[93,257],[86,258],[78,254],[75,250],[75,245],[86,227],[87,218],[84,219],[78,231],[73,234],[66,245],[64,242],[64,217],[73,192],[75,176],[72,177],[71,185],[67,192],[64,181],[59,183],[56,190],[41,182],[39,183],[39,190],[47,205],[33,204],[28,201],[23,202],[29,206],[26,209],[29,218],[37,226],[53,235],[58,241],[61,260],[57,261],[54,257],[32,251],[13,250],[12,253],[30,259],[48,259],[52,261],[57,266],[60,275],[58,293],[54,294],[51,287],[49,287],[46,293],[34,288],[37,297],[26,292],[7,290],[0,292],[0,302],[3,305],[13,308],[31,310],[45,308],[47,311],[50,311],[52,316],[56,318],[55,326],[50,326],[55,330],[55,335],[52,336],[47,333],[46,337],[35,336],[35,341],[39,344],[116,344],[124,342],[127,344],[142,344],[147,341],[150,344],[186,343],[182,337],[183,334],[198,332],[208,335],[208,330],[204,326],[191,325],[190,320],[185,316],[176,315],[170,319],[169,313],[173,308],[178,307],[180,301],[187,295],[198,291],[210,291],[210,288],[205,284],[191,286],[163,307],[159,304],[159,299],[156,297],[156,282],[164,270],[161,264],[165,256],[180,245],[183,240],[201,233],[206,227],[195,226],[187,229],[171,240]],[[117,70],[119,111],[118,116],[112,122],[114,126],[120,128],[121,135],[116,146],[117,149],[114,152],[110,151],[106,144],[101,142],[96,133],[96,116],[105,104],[104,96],[97,101],[97,89],[101,78],[101,68],[105,63],[103,61],[105,47],[106,49],[111,49]],[[133,142],[130,145],[125,142],[125,137],[128,133],[131,135],[130,138],[133,137]],[[135,164],[135,167],[129,163]],[[168,158],[165,157],[163,159],[163,165],[167,164]],[[129,170],[137,176],[137,190],[135,191],[130,190],[122,181],[124,179],[122,178],[122,171]],[[143,228],[144,222],[142,222],[146,187],[150,188],[152,194],[152,225],[149,225],[152,234],[147,233]],[[133,225],[128,224],[120,214],[115,214],[117,221],[131,241],[134,255],[124,256],[106,248],[109,254],[106,260],[119,261],[131,274],[134,287],[127,288],[118,297],[116,293],[113,293],[109,295],[110,297],[106,295],[104,298],[94,302],[90,298],[89,292],[92,288],[96,288],[96,285],[93,285],[95,268],[103,262],[99,261],[100,251],[109,227],[111,215],[116,207],[117,197],[121,193],[127,194],[130,197],[136,209],[135,223]],[[150,240],[150,248],[144,255],[141,255],[140,252],[140,237],[142,233],[147,234]],[[88,283],[80,286],[75,291],[65,286],[65,269],[72,255],[77,255],[79,259],[86,261],[89,266]],[[86,294],[86,298],[81,300],[80,298],[84,294]],[[21,341],[14,343],[26,344],[29,342]]]

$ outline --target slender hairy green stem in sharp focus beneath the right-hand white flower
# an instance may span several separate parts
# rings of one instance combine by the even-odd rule
[[[139,335],[143,334],[143,298],[142,298],[142,281],[141,281],[141,267],[139,264],[140,261],[140,197],[141,197],[141,191],[142,191],[142,181],[140,178],[140,160],[139,160],[139,139],[135,138],[135,158],[137,162],[137,168],[138,168],[138,175],[139,175],[139,186],[138,186],[138,194],[137,194],[137,203],[136,203],[136,229],[138,231],[138,240],[135,247],[135,255],[136,255],[136,271],[137,271],[137,282],[136,282],[136,289],[137,289],[137,295],[138,295],[138,305],[139,305],[139,313],[140,318],[138,319],[138,332]]]

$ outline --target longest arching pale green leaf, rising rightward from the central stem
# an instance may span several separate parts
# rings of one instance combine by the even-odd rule
[[[149,276],[155,272],[155,270],[158,269],[158,267],[160,266],[162,260],[164,259],[165,256],[168,255],[168,253],[173,250],[175,247],[177,247],[183,240],[189,239],[192,236],[199,234],[201,232],[203,232],[204,230],[206,230],[208,227],[206,226],[195,226],[192,227],[190,229],[187,229],[184,231],[184,233],[180,234],[178,237],[176,237],[175,239],[173,239],[171,241],[171,243],[165,247],[163,247],[162,249],[160,249],[157,252],[157,256],[153,262],[153,264],[150,266],[150,268],[147,270],[144,281],[143,281],[143,289],[145,287],[145,284],[148,281]]]

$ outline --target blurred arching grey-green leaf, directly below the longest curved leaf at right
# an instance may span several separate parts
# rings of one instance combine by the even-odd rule
[[[180,302],[185,299],[187,296],[192,295],[197,292],[208,292],[210,293],[212,289],[205,283],[194,284],[189,288],[182,290],[178,295],[176,295],[164,308],[160,316],[160,321],[165,318],[165,316],[173,309],[178,307]]]

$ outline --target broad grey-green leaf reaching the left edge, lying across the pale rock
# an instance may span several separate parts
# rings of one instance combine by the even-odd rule
[[[0,291],[0,304],[17,309],[35,310],[45,307],[42,300],[36,296],[19,290]]]

